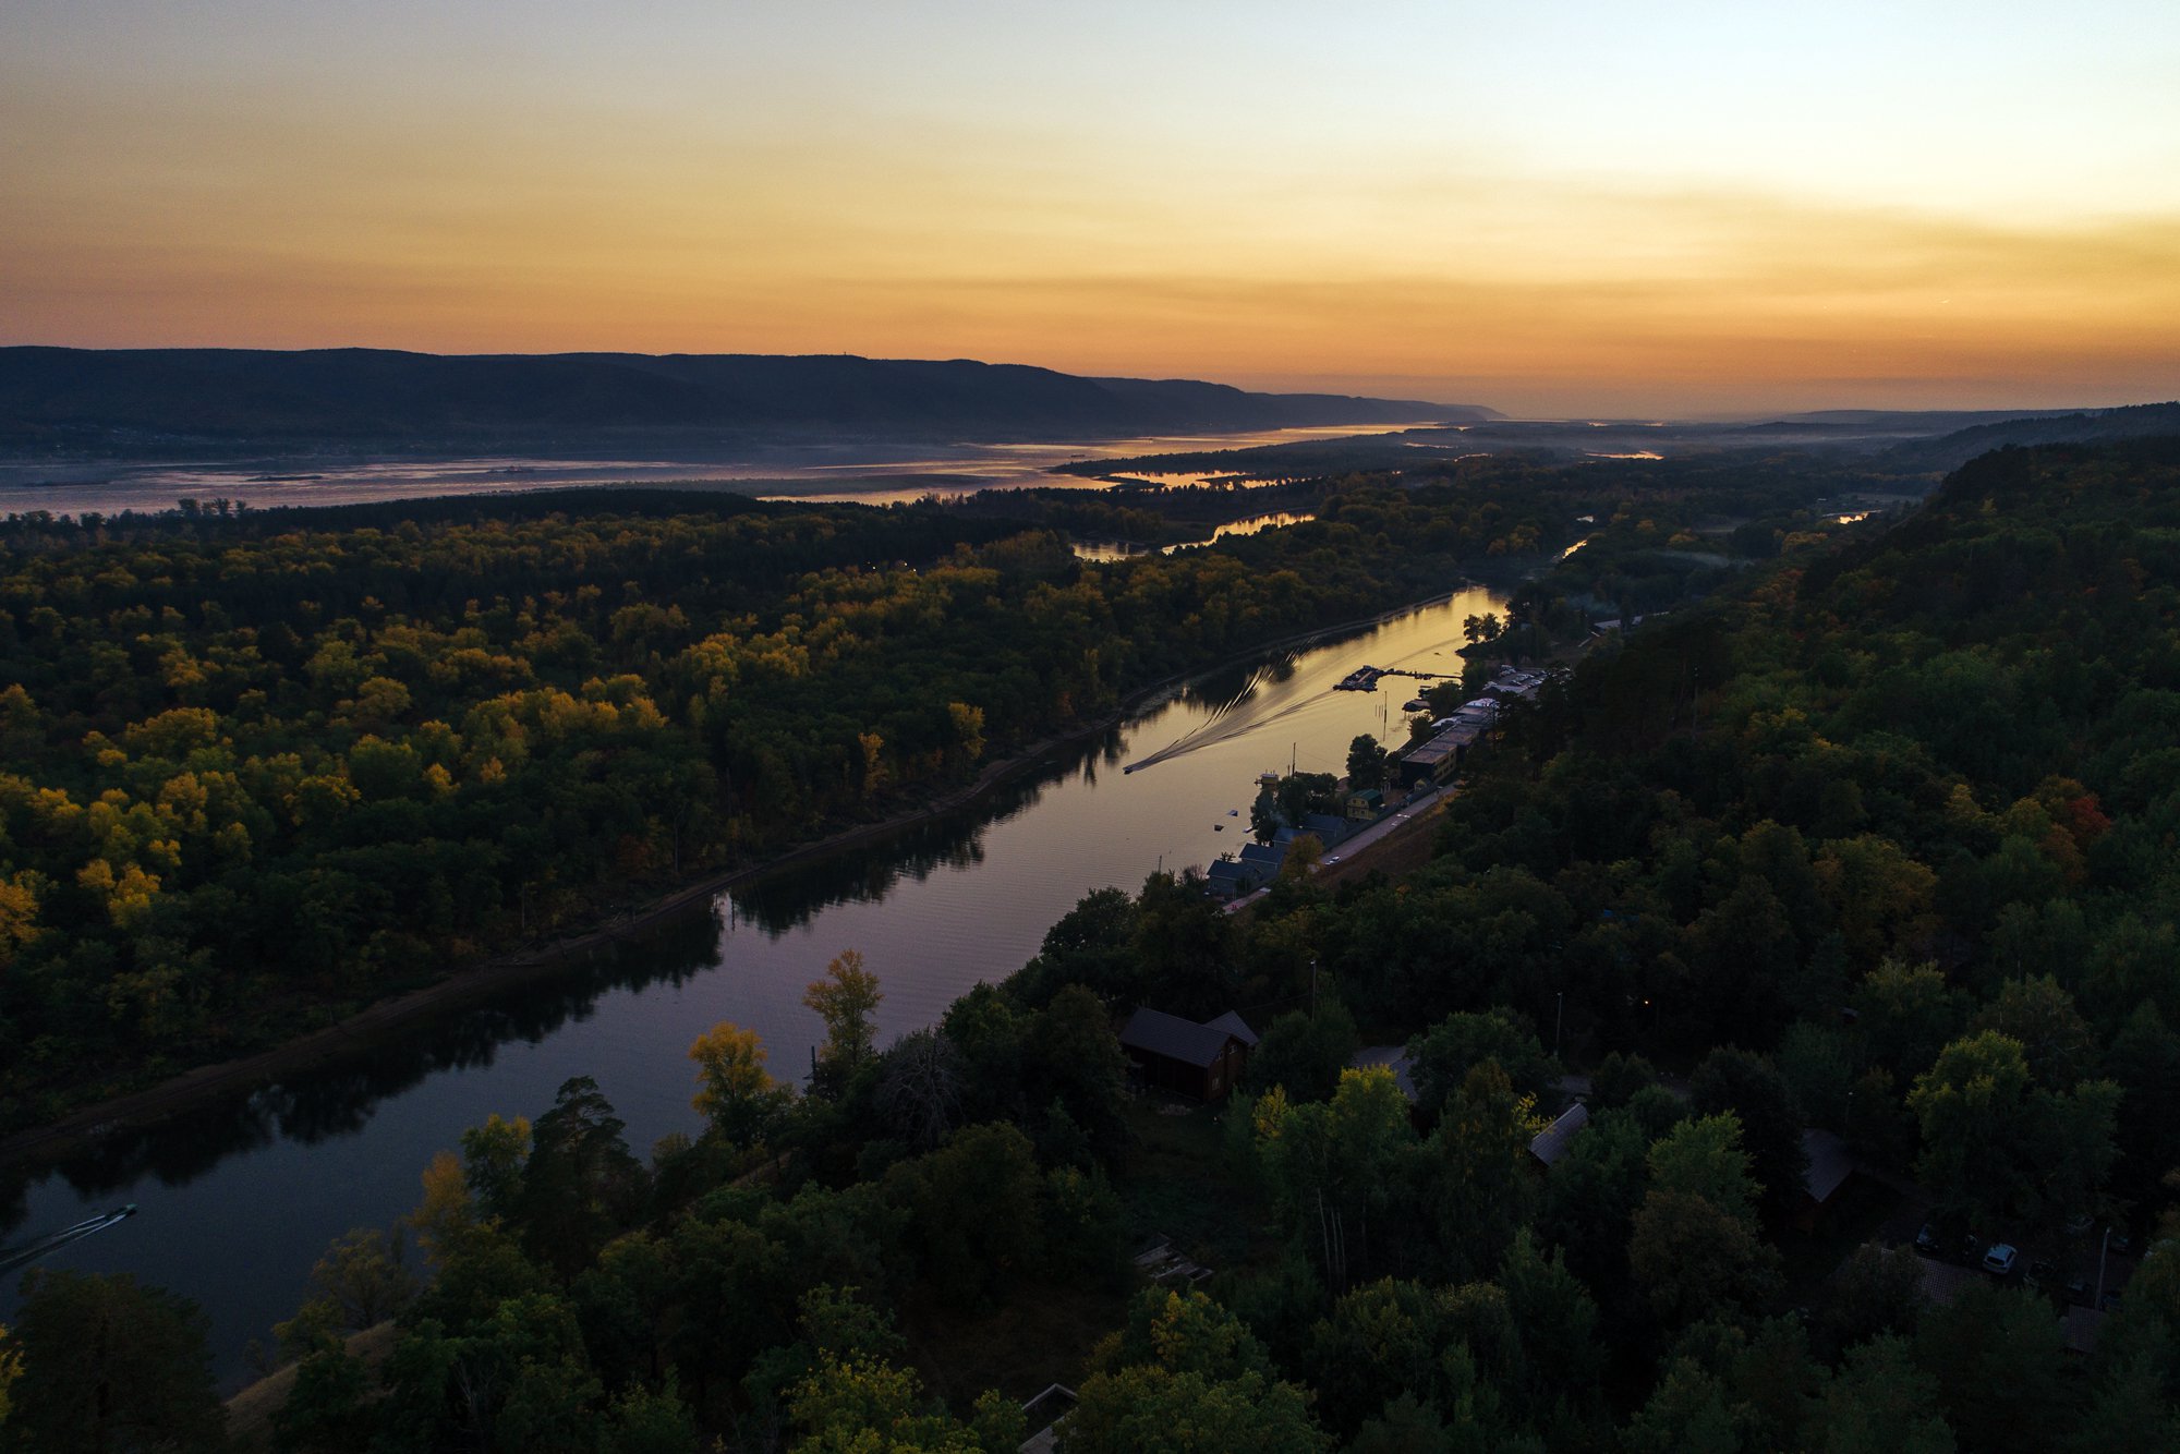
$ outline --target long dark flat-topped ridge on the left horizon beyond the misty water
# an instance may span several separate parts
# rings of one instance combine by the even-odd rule
[[[1092,438],[1498,419],[1480,405],[1256,395],[1025,364],[763,353],[0,349],[0,445],[440,447],[857,432]],[[700,440],[685,440],[700,443]]]

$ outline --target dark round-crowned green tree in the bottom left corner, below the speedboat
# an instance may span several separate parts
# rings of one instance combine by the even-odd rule
[[[9,1441],[39,1454],[218,1447],[227,1410],[205,1325],[196,1304],[126,1273],[33,1271]]]

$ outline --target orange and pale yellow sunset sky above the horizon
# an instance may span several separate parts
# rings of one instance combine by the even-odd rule
[[[0,0],[0,342],[2141,403],[2176,76],[2173,0]]]

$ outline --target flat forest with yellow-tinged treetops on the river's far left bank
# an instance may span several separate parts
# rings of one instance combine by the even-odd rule
[[[1563,525],[1360,488],[1107,567],[1020,530],[628,490],[0,528],[0,1125],[881,817]]]

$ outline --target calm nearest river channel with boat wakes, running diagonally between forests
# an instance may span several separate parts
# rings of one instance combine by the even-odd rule
[[[776,1073],[798,1077],[822,1035],[802,987],[844,948],[859,948],[883,981],[881,1044],[933,1022],[977,981],[1020,968],[1086,892],[1136,889],[1160,865],[1240,848],[1260,772],[1343,772],[1358,732],[1404,741],[1400,704],[1417,682],[1389,678],[1376,693],[1332,684],[1365,663],[1458,671],[1463,617],[1504,606],[1465,589],[1339,641],[1208,674],[953,817],[735,887],[591,966],[449,1014],[358,1064],[116,1134],[0,1188],[0,1247],[137,1203],[137,1216],[41,1267],[135,1273],[194,1297],[233,1386],[251,1338],[270,1343],[325,1245],[414,1208],[425,1162],[464,1127],[493,1112],[536,1116],[562,1079],[593,1075],[639,1153],[695,1131],[689,1042],[735,1020],[763,1035]],[[17,1301],[17,1277],[7,1282],[0,1321]]]

